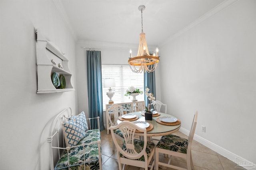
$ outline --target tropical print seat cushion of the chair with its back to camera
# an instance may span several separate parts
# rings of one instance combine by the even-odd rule
[[[136,150],[137,153],[140,153],[143,150],[143,146],[144,146],[144,141],[134,139],[134,149]],[[146,153],[147,153],[148,158],[150,156],[150,153],[153,151],[154,146],[155,146],[154,142],[147,142]],[[126,150],[125,142],[122,146],[122,150]],[[122,154],[120,154],[120,157],[126,158]],[[142,156],[136,160],[145,161],[145,158],[144,158],[144,156]]]

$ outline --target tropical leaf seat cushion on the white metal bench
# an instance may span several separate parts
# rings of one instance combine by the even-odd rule
[[[96,142],[99,139],[100,131],[98,129],[87,130],[85,137],[77,145]],[[86,162],[86,170],[100,169],[98,144],[85,145],[84,150],[83,146],[72,148],[68,152],[67,150],[64,150],[64,153],[56,164],[54,170],[68,170],[68,155],[71,170],[84,170],[84,162]]]

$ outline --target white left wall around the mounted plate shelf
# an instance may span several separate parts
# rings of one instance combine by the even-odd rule
[[[74,75],[75,39],[52,0],[0,0],[0,26],[0,169],[49,170],[50,120],[78,102],[76,91],[36,94],[34,29],[66,53]]]

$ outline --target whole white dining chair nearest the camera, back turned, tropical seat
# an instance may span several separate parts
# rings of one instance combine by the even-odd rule
[[[114,130],[119,129],[124,136],[124,143],[120,146],[114,135]],[[138,140],[134,138],[136,130],[143,132],[144,140]],[[110,127],[112,139],[116,145],[118,166],[119,170],[122,170],[121,164],[123,164],[123,170],[125,165],[137,166],[150,170],[154,168],[155,164],[155,144],[154,142],[147,141],[146,128],[140,128],[130,121],[123,121],[117,126]],[[150,161],[154,159],[152,165]]]

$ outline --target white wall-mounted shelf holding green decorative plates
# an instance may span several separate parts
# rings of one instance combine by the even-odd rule
[[[58,93],[74,91],[71,84],[72,73],[68,68],[68,59],[54,43],[46,40],[36,29],[36,64],[37,64],[37,93]],[[54,62],[53,62],[54,60]],[[52,73],[64,75],[66,88],[55,88],[52,83]]]

